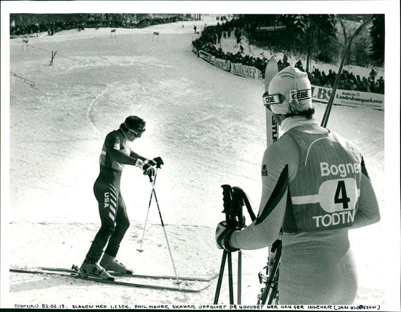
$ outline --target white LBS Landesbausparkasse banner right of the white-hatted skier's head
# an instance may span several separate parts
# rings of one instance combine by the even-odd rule
[[[328,103],[331,95],[331,88],[314,85],[311,87],[312,100]],[[337,89],[333,104],[384,110],[384,94]]]

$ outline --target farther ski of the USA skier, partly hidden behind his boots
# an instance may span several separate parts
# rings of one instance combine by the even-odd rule
[[[58,268],[58,267],[39,267],[41,270],[45,271],[55,271],[55,272],[68,272],[68,273],[77,273],[78,267],[73,265],[72,269],[67,268]],[[147,274],[135,274],[132,270],[128,270],[126,273],[121,272],[113,272],[108,271],[110,275],[113,276],[124,276],[124,277],[136,277],[136,278],[151,278],[151,279],[176,279],[176,276],[173,275],[147,275]],[[178,276],[180,280],[188,280],[188,281],[211,281],[217,278],[219,274],[213,275],[205,275],[204,277],[200,276]]]

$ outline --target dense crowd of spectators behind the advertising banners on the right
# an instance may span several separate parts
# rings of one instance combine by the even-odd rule
[[[228,22],[223,23],[222,25],[218,23],[217,26],[207,26],[203,30],[202,35],[198,39],[192,41],[192,45],[197,50],[203,50],[219,59],[229,60],[232,63],[240,63],[246,66],[255,67],[262,72],[263,77],[264,70],[268,61],[266,57],[262,55],[260,58],[244,55],[243,49],[241,49],[241,45],[240,50],[235,54],[231,52],[224,52],[221,47],[216,48],[216,46],[218,46],[218,44],[220,43],[222,37],[230,38],[231,33],[234,30],[233,28],[231,28],[231,26],[232,24],[229,24]],[[238,39],[238,36],[241,37],[241,31],[239,29],[235,29],[234,35],[237,39],[237,44],[241,43],[241,40]],[[282,70],[283,68],[290,65],[291,64],[288,62],[288,58],[286,55],[284,55],[283,60],[278,61],[279,70]],[[294,66],[301,71],[306,71],[303,68],[301,60],[298,60],[294,64]],[[335,78],[337,76],[337,74],[331,69],[329,70],[328,74],[326,74],[324,71],[320,71],[318,68],[315,67],[313,67],[312,71],[308,72],[307,74],[311,84],[327,88],[332,88]],[[353,73],[350,73],[343,69],[337,88],[341,90],[355,90],[361,92],[384,94],[384,79],[382,76],[380,76],[380,78],[377,78],[376,76],[377,72],[374,69],[372,69],[367,78],[361,78],[359,75],[355,76]]]

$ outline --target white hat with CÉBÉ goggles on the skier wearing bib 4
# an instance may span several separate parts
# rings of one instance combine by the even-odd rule
[[[278,72],[263,95],[264,105],[272,112],[286,115],[312,107],[312,91],[308,75],[298,68],[288,66]]]

